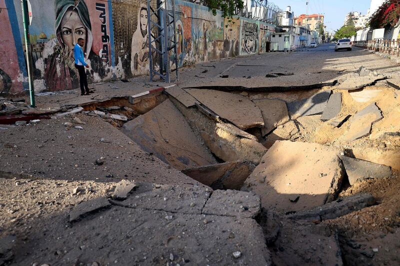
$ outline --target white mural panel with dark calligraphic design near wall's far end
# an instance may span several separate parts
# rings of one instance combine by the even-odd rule
[[[241,19],[240,27],[240,55],[256,53],[258,47],[257,23]]]

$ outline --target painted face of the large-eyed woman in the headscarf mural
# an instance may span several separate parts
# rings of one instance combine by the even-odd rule
[[[62,42],[70,50],[76,44],[78,38],[86,39],[86,27],[80,20],[76,10],[68,9],[61,19],[60,31]]]

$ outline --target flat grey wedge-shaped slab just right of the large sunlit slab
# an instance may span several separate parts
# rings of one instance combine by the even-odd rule
[[[351,186],[358,180],[391,177],[392,174],[391,168],[386,165],[375,164],[346,156],[342,156],[340,159],[343,162]]]

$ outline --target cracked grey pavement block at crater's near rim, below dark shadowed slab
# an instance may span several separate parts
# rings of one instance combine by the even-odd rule
[[[205,215],[254,218],[261,209],[258,196],[237,190],[215,190],[205,204]]]

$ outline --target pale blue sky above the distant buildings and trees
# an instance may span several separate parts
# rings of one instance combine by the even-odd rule
[[[344,17],[350,11],[366,14],[370,4],[370,0],[271,0],[282,10],[290,5],[295,16],[305,14],[306,1],[308,1],[308,14],[324,14],[324,24],[328,31],[340,28]]]

